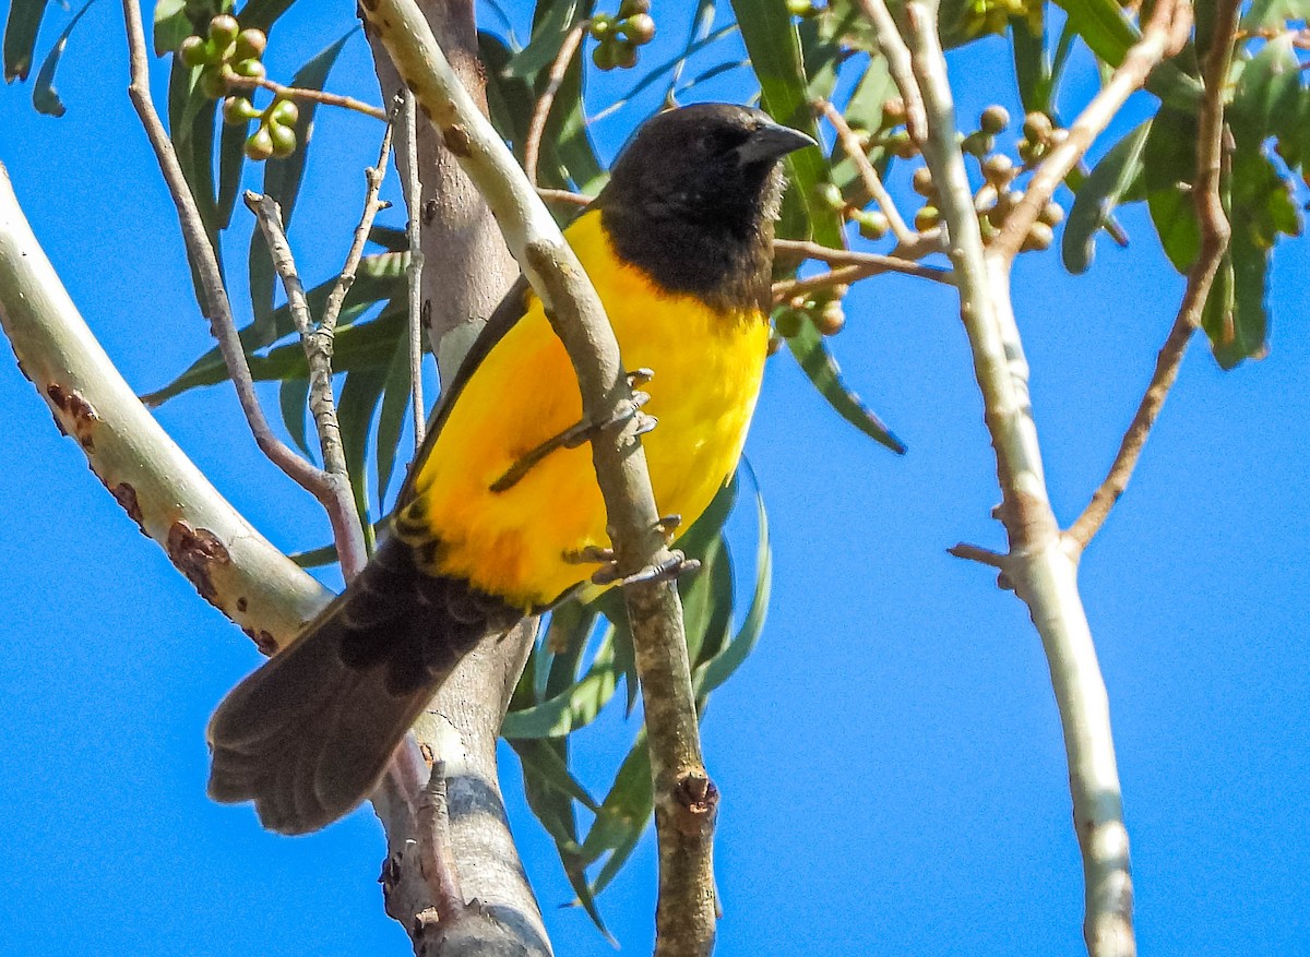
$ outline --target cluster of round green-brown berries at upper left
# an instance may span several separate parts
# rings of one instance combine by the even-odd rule
[[[187,67],[200,69],[200,89],[211,99],[223,99],[223,120],[242,126],[252,119],[259,126],[246,137],[245,154],[261,162],[270,157],[286,157],[296,152],[296,122],[300,107],[292,101],[275,98],[265,109],[257,107],[249,96],[228,96],[232,80],[262,80],[269,38],[263,30],[242,30],[236,17],[220,13],[210,21],[207,37],[187,37],[178,48],[178,56]]]

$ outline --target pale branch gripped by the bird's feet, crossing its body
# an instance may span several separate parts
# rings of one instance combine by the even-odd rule
[[[541,296],[579,378],[584,414],[600,422],[631,401],[613,330],[572,250],[499,135],[445,62],[411,1],[376,0],[365,14],[406,85],[461,160]],[[633,575],[671,555],[659,525],[635,420],[592,442],[618,571]],[[660,846],[658,954],[709,953],[715,893],[711,837],[718,795],[705,774],[677,590],[669,581],[625,589],[637,649],[655,784]]]

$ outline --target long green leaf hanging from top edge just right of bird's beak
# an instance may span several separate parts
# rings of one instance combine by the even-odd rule
[[[800,59],[800,38],[782,0],[732,0],[741,39],[760,80],[764,109],[790,127],[819,139],[810,109],[810,92]],[[832,249],[842,245],[841,219],[820,195],[831,182],[828,161],[819,149],[798,149],[787,157],[793,189],[782,206],[778,234],[807,238]]]

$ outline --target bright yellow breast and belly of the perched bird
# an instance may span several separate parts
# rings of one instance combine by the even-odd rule
[[[621,262],[590,212],[567,230],[630,369],[655,374],[643,411],[659,425],[643,437],[662,515],[689,526],[736,469],[760,391],[768,323],[757,310],[724,312],[660,292]],[[536,296],[524,317],[465,382],[430,454],[397,533],[426,571],[468,579],[524,609],[554,601],[596,566],[570,560],[608,547],[605,505],[591,448],[557,449],[514,486],[491,486],[528,452],[582,419],[572,365]],[[424,558],[426,556],[426,558]]]

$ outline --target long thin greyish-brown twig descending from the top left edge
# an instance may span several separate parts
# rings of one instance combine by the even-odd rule
[[[214,338],[217,339],[219,352],[223,355],[232,385],[236,388],[241,411],[245,412],[250,432],[261,452],[322,504],[328,512],[338,549],[348,550],[351,529],[358,530],[359,528],[358,518],[352,518],[355,501],[350,487],[343,487],[331,475],[307,462],[278,439],[259,407],[245,347],[237,334],[236,322],[232,318],[232,305],[228,301],[227,288],[223,285],[223,272],[219,270],[217,255],[210,242],[208,232],[177,160],[177,153],[173,151],[173,143],[169,140],[151,99],[149,54],[138,0],[123,0],[123,20],[127,25],[127,48],[131,65],[131,82],[127,86],[127,94],[155,151],[155,158],[173,198],[173,206],[177,207],[186,257],[200,283],[200,310],[210,321]]]

